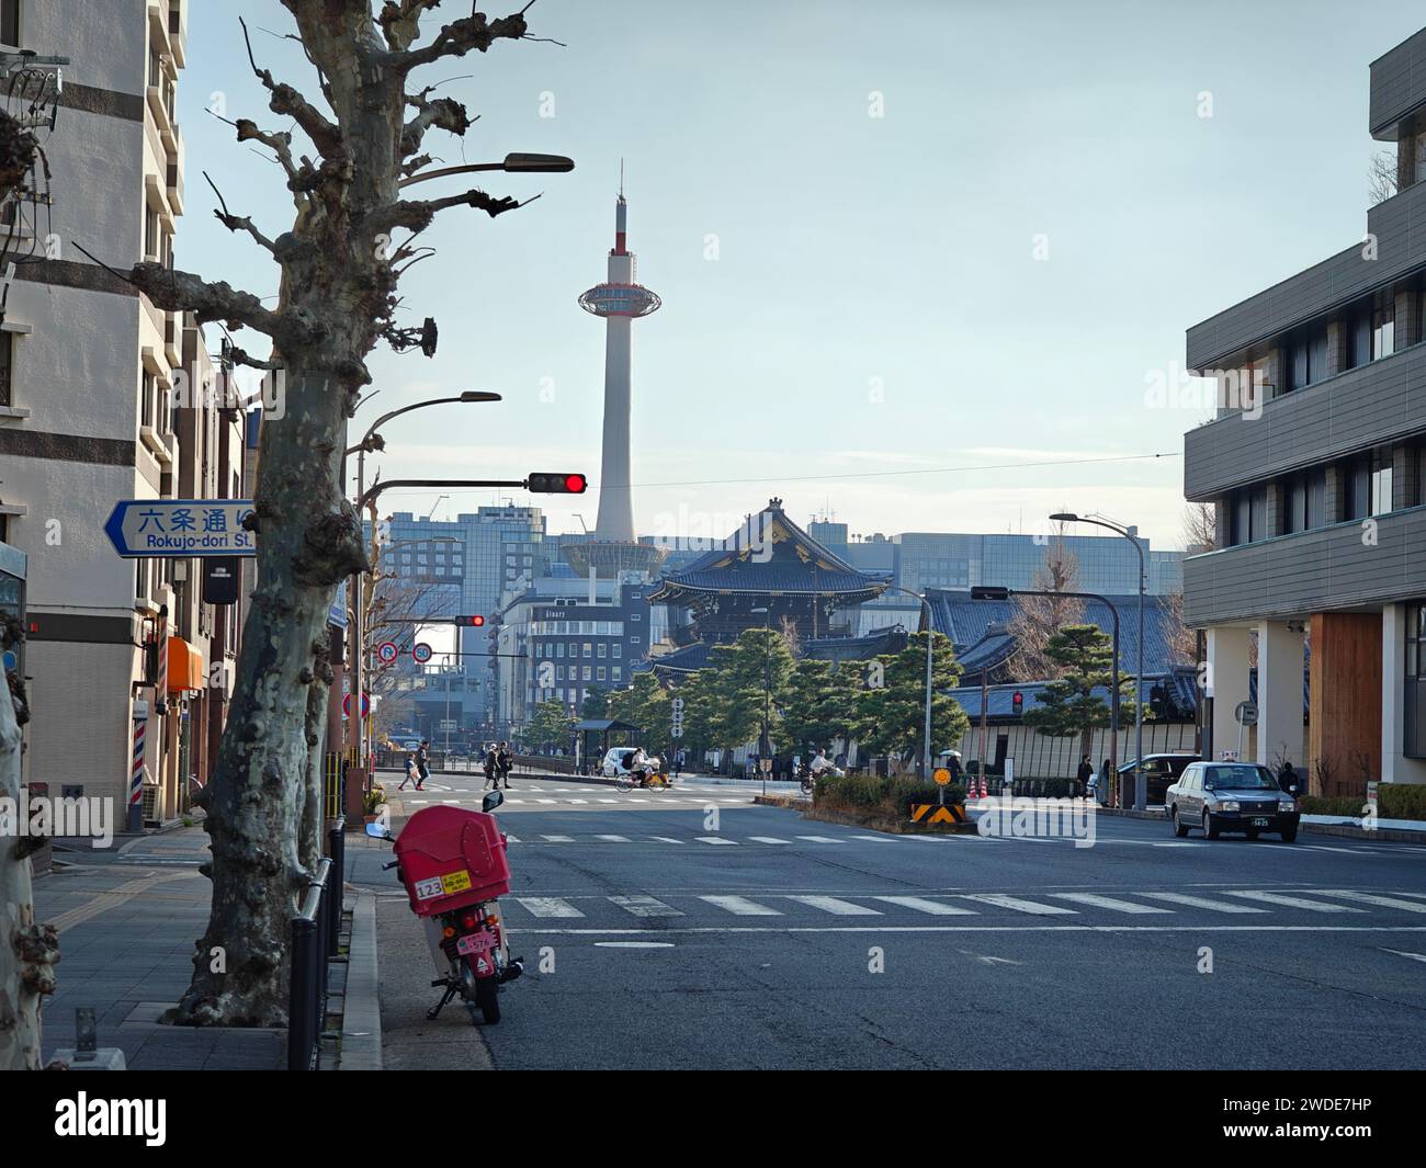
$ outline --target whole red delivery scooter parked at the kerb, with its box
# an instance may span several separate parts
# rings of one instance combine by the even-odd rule
[[[406,887],[411,911],[425,921],[431,956],[441,974],[431,984],[445,987],[434,1007],[435,1018],[456,995],[476,1021],[501,1020],[501,987],[525,973],[523,958],[511,960],[498,898],[511,890],[505,836],[491,814],[505,801],[489,792],[479,811],[462,807],[424,807],[406,820],[401,836],[381,823],[368,823],[366,834],[395,840],[396,869]]]

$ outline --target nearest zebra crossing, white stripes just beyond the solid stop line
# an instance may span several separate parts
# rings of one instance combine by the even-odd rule
[[[1346,901],[1345,904],[1340,901]],[[1368,920],[1390,918],[1406,927],[1422,927],[1419,916],[1426,914],[1426,893],[1360,891],[1355,888],[1204,888],[1195,893],[1168,890],[1134,890],[1114,893],[1087,891],[1015,891],[1015,893],[920,893],[860,894],[838,893],[704,893],[665,894],[647,893],[620,896],[513,896],[502,901],[506,921],[512,928],[538,921],[602,921],[633,918],[646,923],[659,920],[687,920],[697,923],[712,914],[714,918],[739,917],[831,917],[881,918],[888,924],[918,917],[981,917],[1050,918],[1072,924],[1078,921],[1104,923],[1152,917],[1158,924],[1164,917],[1194,917],[1211,921],[1216,916],[1258,918],[1288,917],[1312,921],[1315,914],[1346,913],[1360,927]],[[512,911],[518,906],[518,911]],[[1047,921],[1048,923],[1048,921]],[[1316,918],[1320,923],[1320,917]],[[1135,926],[1127,926],[1135,927]],[[1349,927],[1343,924],[1342,927]]]

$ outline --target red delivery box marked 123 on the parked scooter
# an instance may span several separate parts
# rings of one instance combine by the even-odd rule
[[[495,816],[461,807],[422,807],[396,837],[411,911],[434,917],[511,890],[505,837]]]

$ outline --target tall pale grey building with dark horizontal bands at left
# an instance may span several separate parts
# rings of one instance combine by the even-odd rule
[[[11,47],[71,60],[43,141],[51,203],[21,191],[0,212],[16,264],[0,328],[0,512],[6,539],[29,556],[27,770],[56,793],[123,806],[134,702],[158,705],[144,646],[167,652],[170,633],[188,629],[198,649],[217,629],[188,609],[193,565],[120,559],[103,532],[117,499],[174,496],[185,475],[171,401],[184,322],[76,244],[120,270],[173,262],[184,210],[174,96],[188,4],[9,0],[0,14]],[[194,471],[194,482],[220,461]],[[151,817],[180,803],[187,692],[147,734],[141,760],[160,780],[145,793]],[[205,714],[190,707],[194,716]],[[190,752],[205,737],[190,733]]]

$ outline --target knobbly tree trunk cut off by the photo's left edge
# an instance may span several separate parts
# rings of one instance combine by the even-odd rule
[[[17,640],[19,625],[7,618],[4,645]],[[14,640],[11,640],[14,636]],[[23,709],[23,705],[21,705]],[[0,679],[0,799],[7,814],[20,801],[20,723],[10,689]],[[9,811],[16,809],[16,811]],[[54,926],[34,923],[31,844],[24,824],[0,833],[0,1071],[40,1068],[40,1000],[54,993],[60,960]]]

